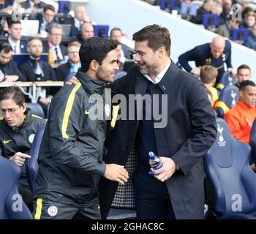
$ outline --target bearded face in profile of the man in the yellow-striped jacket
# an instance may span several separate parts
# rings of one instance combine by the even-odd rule
[[[111,50],[99,65],[96,78],[105,82],[113,82],[118,69],[116,50]]]

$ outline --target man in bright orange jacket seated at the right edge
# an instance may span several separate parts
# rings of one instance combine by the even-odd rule
[[[233,137],[248,144],[252,123],[256,118],[256,86],[252,80],[241,82],[239,97],[238,103],[225,113],[224,119]]]

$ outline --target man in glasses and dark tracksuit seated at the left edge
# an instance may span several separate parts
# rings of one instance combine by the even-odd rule
[[[29,151],[35,133],[45,127],[46,121],[31,113],[26,107],[23,92],[15,86],[0,92],[0,110],[0,155],[22,167],[19,190],[25,203],[31,207],[32,197],[24,163],[31,157]]]

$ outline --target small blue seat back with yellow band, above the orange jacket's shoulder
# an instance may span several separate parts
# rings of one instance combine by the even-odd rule
[[[227,86],[219,94],[219,100],[215,105],[217,116],[223,118],[231,107],[239,100],[239,90],[236,86]]]

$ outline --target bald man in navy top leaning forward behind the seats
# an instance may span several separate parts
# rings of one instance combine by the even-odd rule
[[[211,43],[198,45],[192,50],[181,54],[178,57],[181,66],[187,71],[195,75],[200,74],[200,67],[203,65],[211,65],[218,69],[217,82],[225,72],[224,64],[227,64],[227,70],[231,76],[235,76],[236,72],[231,64],[231,44],[221,36],[214,37]],[[189,61],[195,61],[196,67],[192,69]]]

